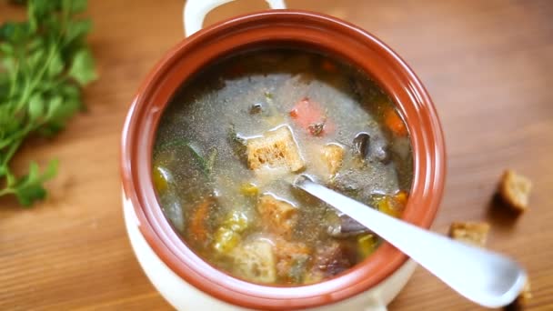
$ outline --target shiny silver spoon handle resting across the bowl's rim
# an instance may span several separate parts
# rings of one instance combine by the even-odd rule
[[[425,267],[462,296],[482,306],[506,306],[518,296],[526,273],[497,253],[468,246],[380,213],[307,178],[295,186],[334,206]]]

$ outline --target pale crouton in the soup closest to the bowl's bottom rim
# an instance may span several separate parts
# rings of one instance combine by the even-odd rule
[[[265,240],[242,243],[232,251],[236,275],[259,283],[277,280],[273,246]]]

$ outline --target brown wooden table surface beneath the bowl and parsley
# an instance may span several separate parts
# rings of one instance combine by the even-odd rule
[[[528,268],[529,309],[553,309],[553,1],[288,0],[336,15],[402,55],[433,96],[447,141],[447,186],[434,224],[492,224],[489,248]],[[136,262],[121,210],[118,155],[137,86],[183,37],[183,1],[90,1],[90,43],[100,79],[89,107],[55,139],[16,156],[60,173],[51,196],[30,209],[0,200],[0,309],[170,309]],[[206,24],[265,6],[225,5]],[[0,2],[0,23],[21,17]],[[534,181],[531,208],[513,216],[491,204],[498,176],[513,167]],[[390,310],[475,310],[417,268]]]

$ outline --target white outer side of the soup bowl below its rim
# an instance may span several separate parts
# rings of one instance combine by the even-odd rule
[[[126,232],[135,251],[136,258],[157,291],[167,302],[177,310],[245,310],[245,308],[230,305],[222,300],[209,296],[192,286],[180,276],[177,276],[156,255],[138,229],[140,223],[135,214],[135,208],[130,200],[123,195],[123,213]],[[409,277],[415,271],[417,264],[408,259],[396,272],[385,278],[377,286],[368,289],[357,296],[349,297],[332,305],[319,306],[312,310],[386,310],[387,304],[394,299],[407,284]]]

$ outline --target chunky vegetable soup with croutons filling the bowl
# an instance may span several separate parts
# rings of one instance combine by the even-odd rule
[[[366,75],[325,55],[235,55],[183,85],[153,155],[159,202],[198,256],[247,281],[336,276],[380,239],[290,183],[298,174],[400,216],[413,176],[407,127]]]

